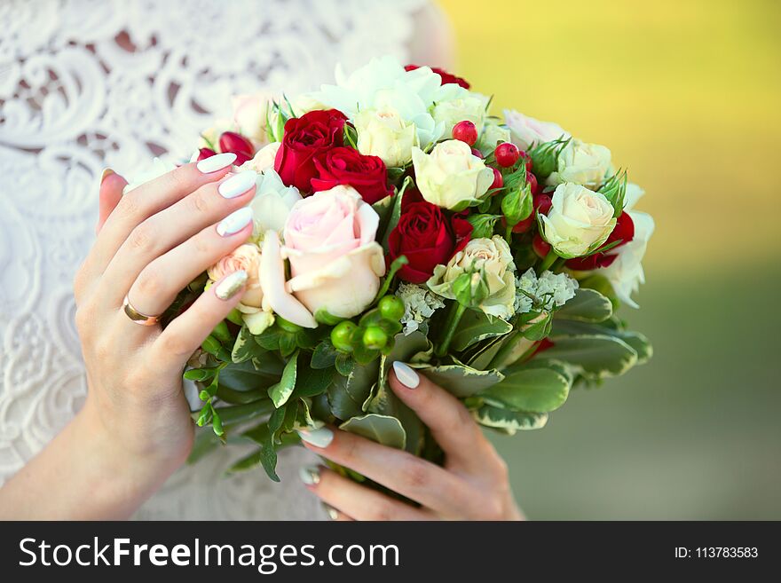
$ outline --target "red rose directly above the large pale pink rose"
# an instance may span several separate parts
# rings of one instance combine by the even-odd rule
[[[350,147],[331,148],[314,158],[317,176],[312,191],[328,190],[336,185],[351,185],[364,201],[374,204],[393,193],[388,185],[388,170],[382,159],[365,156]]]

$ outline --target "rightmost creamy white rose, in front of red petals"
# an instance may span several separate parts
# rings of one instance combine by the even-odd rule
[[[542,235],[559,256],[571,259],[593,251],[610,236],[616,219],[603,193],[572,183],[558,185],[548,216],[540,215]]]

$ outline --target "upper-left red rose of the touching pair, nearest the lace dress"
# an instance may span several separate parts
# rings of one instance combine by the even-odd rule
[[[301,117],[291,117],[285,123],[274,169],[288,186],[301,193],[312,192],[312,178],[317,176],[312,158],[334,146],[342,146],[345,115],[336,110],[311,111]]]

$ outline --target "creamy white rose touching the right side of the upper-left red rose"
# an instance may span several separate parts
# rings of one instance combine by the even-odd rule
[[[358,151],[378,156],[385,166],[404,166],[412,160],[413,146],[419,146],[413,122],[405,122],[392,109],[366,110],[355,116],[358,131]]]

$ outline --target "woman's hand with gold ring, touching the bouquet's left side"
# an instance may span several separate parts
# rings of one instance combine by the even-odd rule
[[[128,470],[134,490],[162,483],[189,453],[193,422],[182,370],[238,303],[243,281],[241,274],[226,276],[226,285],[217,282],[164,331],[133,322],[123,300],[141,314],[160,315],[191,280],[247,240],[251,213],[239,209],[251,201],[255,178],[225,179],[233,159],[222,154],[185,164],[124,196],[122,177],[103,178],[98,238],[74,284],[89,386],[79,422],[101,445],[99,458],[114,460],[115,472]],[[217,226],[223,219],[226,228]]]

